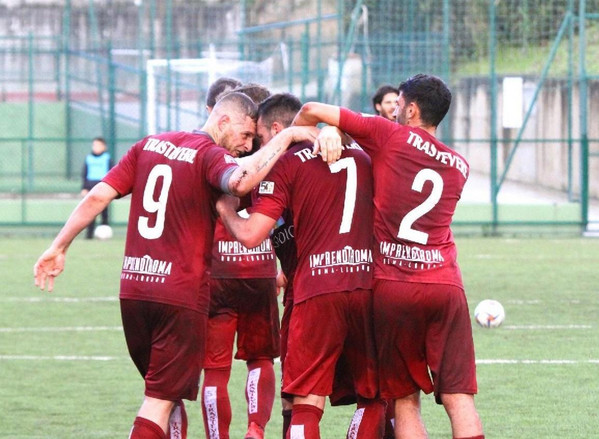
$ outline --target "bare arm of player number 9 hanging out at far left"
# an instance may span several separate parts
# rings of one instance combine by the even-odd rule
[[[92,222],[108,204],[118,196],[112,186],[100,182],[91,189],[75,207],[50,247],[39,257],[33,267],[35,286],[48,291],[54,289],[54,278],[64,270],[66,252],[75,237]]]

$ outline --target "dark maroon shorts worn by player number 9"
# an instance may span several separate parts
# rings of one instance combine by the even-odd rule
[[[121,299],[121,318],[146,396],[195,401],[208,316],[175,305]]]

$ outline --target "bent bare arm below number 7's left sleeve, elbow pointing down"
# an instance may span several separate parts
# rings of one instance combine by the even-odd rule
[[[254,248],[268,238],[277,221],[258,212],[242,218],[237,214],[238,204],[234,197],[223,195],[216,202],[216,210],[233,237],[247,248]]]

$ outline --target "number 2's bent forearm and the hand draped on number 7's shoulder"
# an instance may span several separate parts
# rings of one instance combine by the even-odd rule
[[[326,123],[331,128],[325,127],[314,142],[313,154],[320,152],[322,159],[329,164],[337,161],[343,151],[342,145],[351,143],[349,136],[337,128],[341,118],[340,107],[320,102],[307,102],[300,109],[293,120],[293,125],[317,125]]]

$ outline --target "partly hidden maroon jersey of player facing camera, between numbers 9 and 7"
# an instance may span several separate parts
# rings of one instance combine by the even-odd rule
[[[251,199],[256,198],[252,191]],[[245,214],[245,211],[240,212]],[[248,249],[226,229],[223,222],[216,220],[212,245],[212,267],[210,276],[215,279],[264,279],[277,275],[277,261],[270,238],[259,246]]]

